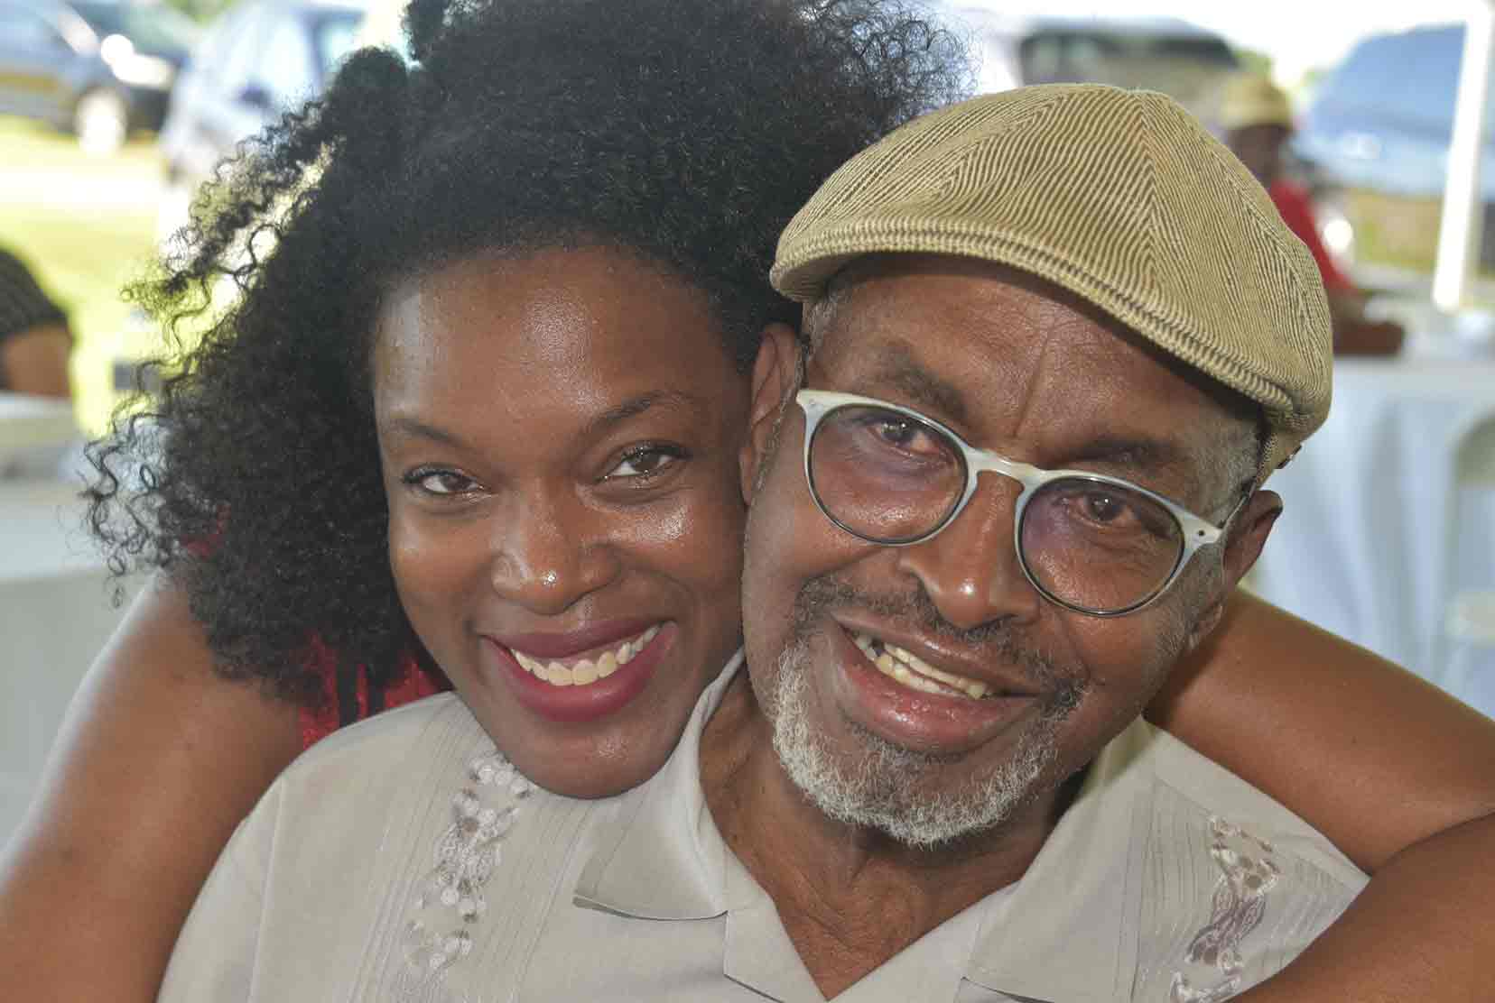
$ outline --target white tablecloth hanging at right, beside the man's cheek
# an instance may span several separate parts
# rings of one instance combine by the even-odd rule
[[[1337,359],[1329,420],[1266,483],[1286,508],[1253,587],[1443,682],[1452,595],[1495,589],[1495,505],[1456,471],[1486,420],[1495,357]]]

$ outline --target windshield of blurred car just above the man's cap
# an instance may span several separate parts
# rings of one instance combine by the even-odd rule
[[[1106,28],[1041,30],[1023,39],[1018,58],[1026,84],[1091,82],[1163,91],[1197,109],[1235,54],[1208,34],[1166,34]]]

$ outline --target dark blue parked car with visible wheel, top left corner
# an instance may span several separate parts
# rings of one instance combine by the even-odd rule
[[[196,25],[142,0],[0,0],[0,114],[109,152],[160,129]]]

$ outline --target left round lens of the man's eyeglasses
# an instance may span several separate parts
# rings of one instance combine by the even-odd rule
[[[939,429],[888,408],[851,405],[810,441],[810,490],[825,514],[878,543],[939,526],[966,490],[966,459]]]

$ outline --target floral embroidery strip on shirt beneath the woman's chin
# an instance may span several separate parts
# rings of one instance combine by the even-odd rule
[[[487,912],[483,888],[502,860],[504,837],[520,801],[535,785],[499,752],[468,764],[469,786],[451,798],[451,825],[437,839],[437,864],[417,886],[413,918],[405,925],[407,979],[401,991],[416,997],[472,951],[471,927]]]

